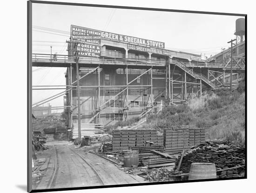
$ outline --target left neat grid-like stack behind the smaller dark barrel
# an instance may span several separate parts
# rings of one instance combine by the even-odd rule
[[[155,129],[121,129],[113,131],[113,151],[128,150],[134,147],[153,147],[162,145],[163,136],[157,135]]]

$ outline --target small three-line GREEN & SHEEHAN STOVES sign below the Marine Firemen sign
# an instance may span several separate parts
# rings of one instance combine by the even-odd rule
[[[77,51],[78,55],[81,57],[100,57],[101,45],[78,44]]]

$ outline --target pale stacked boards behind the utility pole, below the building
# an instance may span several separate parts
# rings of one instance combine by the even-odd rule
[[[81,123],[81,137],[103,134],[104,127],[94,123]],[[73,123],[72,139],[78,138],[78,123]]]

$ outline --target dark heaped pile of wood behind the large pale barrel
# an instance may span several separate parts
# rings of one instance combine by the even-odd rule
[[[176,167],[181,159],[178,157],[176,161]],[[245,164],[245,147],[216,144],[212,142],[205,142],[191,148],[185,153],[182,163],[181,171],[183,173],[189,173],[191,163],[214,163],[216,165],[216,171],[222,171],[225,168],[243,166]],[[237,176],[235,169],[222,171],[221,174],[217,173],[219,177],[234,177]]]

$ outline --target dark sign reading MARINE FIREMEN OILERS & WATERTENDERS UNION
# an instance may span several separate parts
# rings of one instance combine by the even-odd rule
[[[101,31],[71,25],[71,41],[101,45]]]

